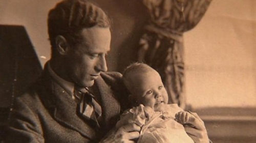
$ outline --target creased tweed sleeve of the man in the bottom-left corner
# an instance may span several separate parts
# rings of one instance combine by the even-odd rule
[[[11,108],[4,140],[5,142],[45,142],[39,119],[20,98],[15,99]]]

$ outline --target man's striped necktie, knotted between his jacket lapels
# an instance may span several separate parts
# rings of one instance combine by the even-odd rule
[[[101,106],[94,99],[93,94],[88,89],[79,89],[75,91],[76,98],[79,99],[79,112],[84,119],[93,122],[100,127],[98,121],[101,119]]]

